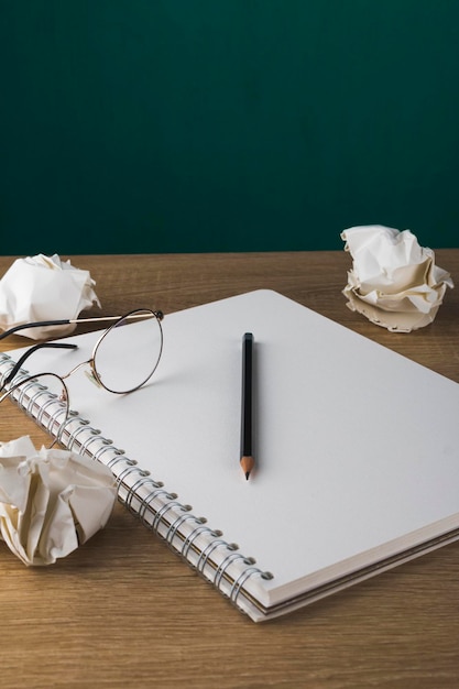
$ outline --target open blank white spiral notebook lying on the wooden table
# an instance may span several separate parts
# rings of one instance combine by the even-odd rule
[[[142,324],[129,327],[142,337]],[[78,415],[63,438],[108,464],[125,506],[252,620],[459,538],[457,383],[271,291],[166,315],[163,328],[160,367],[138,392],[68,379]],[[245,331],[256,380],[249,481]],[[64,373],[97,337],[70,337],[77,354],[36,352],[28,365]],[[2,356],[0,371],[10,365]],[[55,435],[42,400],[32,385],[18,402]]]

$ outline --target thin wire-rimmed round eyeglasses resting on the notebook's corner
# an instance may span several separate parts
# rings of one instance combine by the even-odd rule
[[[24,373],[22,367],[24,362],[40,349],[55,348],[74,350],[78,349],[77,344],[63,341],[46,341],[39,342],[28,349],[20,357],[18,362],[4,374],[0,383],[0,392],[6,392],[0,395],[0,402],[12,396],[21,406],[24,406],[24,404],[21,404],[21,401],[25,397],[28,400],[26,404],[31,407],[29,412],[32,415],[35,415],[35,412],[40,413],[40,411],[35,408],[40,406],[40,409],[42,409],[42,413],[46,416],[46,407],[43,408],[43,405],[39,405],[37,402],[41,394],[46,394],[47,390],[50,405],[61,405],[65,420],[69,415],[68,389],[65,384],[65,380],[84,367],[88,367],[86,373],[89,379],[108,392],[127,394],[139,390],[139,387],[142,387],[142,385],[152,378],[160,363],[163,351],[163,329],[161,326],[163,318],[162,311],[142,308],[130,311],[124,316],[47,320],[23,324],[6,330],[0,335],[0,339],[4,339],[19,330],[33,327],[55,327],[69,324],[114,320],[98,338],[92,348],[91,357],[76,364],[64,375],[57,375],[54,372],[30,375],[29,372]],[[139,325],[134,330],[125,327],[133,324]],[[35,386],[36,382],[39,383],[36,394],[34,394],[32,398],[29,393],[32,391],[32,387]]]

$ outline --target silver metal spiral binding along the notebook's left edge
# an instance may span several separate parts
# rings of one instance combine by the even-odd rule
[[[0,357],[0,367],[6,362],[10,363],[10,361],[11,359],[8,356],[2,354]],[[9,370],[11,370],[11,367]],[[8,375],[8,372],[0,372],[2,380]],[[21,373],[29,375],[26,371],[19,372],[19,374]],[[36,385],[40,386],[40,390],[36,390]],[[29,392],[31,390],[33,390],[33,394],[30,395]],[[260,577],[269,580],[273,578],[273,575],[256,567],[253,558],[245,557],[239,551],[236,544],[228,543],[222,538],[222,532],[210,528],[205,517],[195,516],[192,513],[190,505],[183,504],[177,500],[175,493],[166,490],[162,482],[152,479],[147,471],[143,471],[138,466],[135,460],[127,457],[123,450],[116,448],[111,440],[103,438],[101,431],[92,428],[89,422],[81,418],[78,413],[70,412],[70,416],[63,423],[58,422],[62,408],[46,414],[52,404],[58,404],[58,400],[50,392],[47,393],[50,394],[47,400],[41,400],[42,396],[46,395],[46,391],[47,389],[37,381],[31,381],[20,389],[14,400],[29,415],[32,415],[34,407],[39,407],[37,414],[35,416],[32,415],[33,418],[35,418],[37,424],[46,427],[52,435],[56,435],[54,428],[57,427],[57,437],[62,442],[64,442],[61,438],[64,427],[67,424],[76,423],[77,427],[70,429],[65,439],[66,447],[72,450],[75,446],[79,446],[79,453],[87,453],[94,460],[102,461],[102,463],[108,466],[113,471],[119,499],[128,510],[135,514],[147,528],[164,538],[176,554],[227,595],[234,605],[243,610],[240,597],[245,594],[244,586],[249,579]],[[46,426],[43,423],[45,415],[47,416]],[[111,453],[111,457],[106,459],[106,453]],[[119,471],[118,466],[120,463],[122,468]],[[135,477],[133,482],[129,480],[131,477]],[[123,496],[121,495],[121,488],[125,491]],[[149,490],[150,488],[152,490],[143,497],[142,489]],[[134,500],[139,501],[138,507],[133,506]],[[157,507],[153,506],[155,501],[160,503]],[[172,521],[167,516],[170,512],[175,512]],[[176,514],[177,512],[179,514]],[[150,518],[147,518],[147,515],[150,515]],[[192,526],[192,531],[186,535],[186,525],[192,523],[195,526],[194,528]],[[184,526],[185,533],[183,533]],[[196,542],[199,536],[207,540],[205,547],[197,547]],[[181,546],[174,543],[178,537],[182,540]],[[220,562],[218,562],[219,558],[212,558],[219,549],[226,550]],[[197,557],[196,562],[193,561],[192,550]]]

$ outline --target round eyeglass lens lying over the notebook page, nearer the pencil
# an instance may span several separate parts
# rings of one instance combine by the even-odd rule
[[[132,311],[99,340],[94,354],[96,375],[110,392],[136,390],[153,374],[162,348],[163,331],[156,315],[147,309]]]

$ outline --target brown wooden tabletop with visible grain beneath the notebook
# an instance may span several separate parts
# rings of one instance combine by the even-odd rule
[[[269,287],[459,382],[459,249],[437,252],[458,288],[411,335],[346,307],[345,252],[70,259],[90,271],[106,315],[171,313]],[[0,259],[1,275],[12,261]],[[427,391],[426,418],[429,404]],[[3,403],[0,438],[26,433],[44,439]],[[106,529],[48,568],[25,568],[0,543],[0,621],[6,689],[457,689],[459,544],[256,625],[117,505]]]

